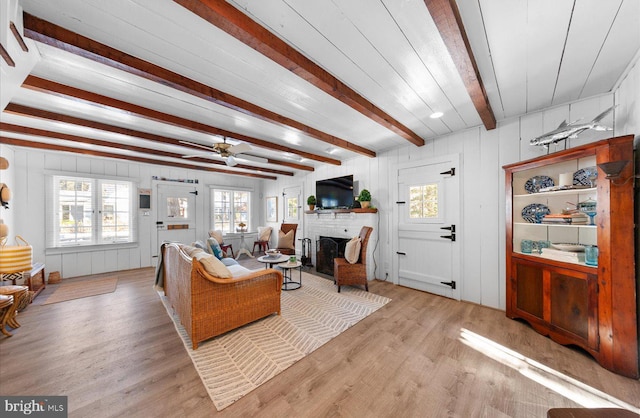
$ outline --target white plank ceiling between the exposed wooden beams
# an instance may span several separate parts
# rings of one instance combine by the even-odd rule
[[[422,140],[428,140],[483,124],[456,62],[429,13],[426,5],[429,2],[232,0],[229,3],[372,106]],[[417,146],[178,2],[21,0],[19,5],[29,15],[67,31],[372,153]],[[640,50],[640,2],[637,0],[457,0],[457,7],[489,104],[498,121],[610,92]],[[10,13],[6,7],[1,11]],[[22,32],[22,16],[18,14],[15,20],[27,44],[35,49],[30,53],[39,56],[26,84],[31,84],[35,77],[198,122],[214,131],[227,132],[232,144],[245,142],[243,138],[247,137],[266,141],[262,145],[250,144],[249,154],[269,159],[269,162],[243,161],[245,168],[226,167],[223,163],[214,167],[242,175],[264,174],[265,170],[285,172],[270,176],[290,175],[300,172],[301,167],[283,165],[283,162],[302,164],[310,170],[319,164],[331,163],[320,161],[322,158],[337,163],[358,155],[287,123],[255,117],[161,82],[31,41]],[[0,40],[12,41],[7,36]],[[4,61],[2,69],[3,74],[9,71]],[[3,91],[14,91],[6,84],[9,80],[10,77],[2,78]],[[61,97],[51,91],[25,86],[15,94],[11,93],[11,97],[6,97],[8,93],[2,94],[2,103],[7,105],[0,116],[2,141],[19,139],[34,144],[57,144],[79,150],[152,158],[159,164],[177,162],[211,166],[206,162],[179,158],[179,155],[194,153],[223,161],[205,150],[195,152],[185,146],[158,144],[140,135],[108,132],[100,127],[80,126],[73,121],[41,119],[16,109],[45,110],[203,145],[222,140],[211,131],[176,126],[168,117],[143,117],[131,110],[99,104],[94,99]],[[443,112],[443,116],[430,118],[434,112]],[[47,138],[35,131],[21,131],[15,126],[107,142],[81,144],[55,134]],[[120,148],[105,146],[108,143]],[[20,144],[25,146],[27,143]],[[291,150],[274,149],[269,144]],[[169,151],[178,157],[125,150],[122,145]],[[309,158],[309,154],[322,158]]]

